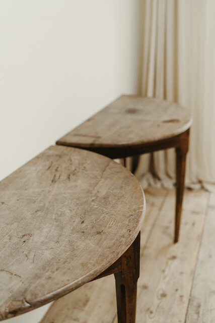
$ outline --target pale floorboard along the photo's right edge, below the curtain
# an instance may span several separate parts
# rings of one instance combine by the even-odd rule
[[[215,322],[215,194],[211,193],[186,323]]]

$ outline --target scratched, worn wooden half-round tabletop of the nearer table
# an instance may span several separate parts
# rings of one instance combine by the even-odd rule
[[[51,146],[0,182],[0,319],[91,281],[137,236],[137,179],[115,161]]]

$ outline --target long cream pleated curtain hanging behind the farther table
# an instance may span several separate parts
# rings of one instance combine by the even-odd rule
[[[175,101],[193,117],[186,185],[215,183],[215,0],[144,0],[143,96]],[[173,149],[142,155],[142,186],[175,182]]]

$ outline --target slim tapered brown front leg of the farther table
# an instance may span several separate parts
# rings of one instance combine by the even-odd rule
[[[189,131],[184,134],[182,139],[183,140],[181,141],[181,145],[179,147],[176,147],[176,210],[174,243],[178,242],[179,238]]]

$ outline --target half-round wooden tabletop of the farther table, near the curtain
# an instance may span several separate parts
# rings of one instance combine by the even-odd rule
[[[144,145],[179,135],[191,122],[190,113],[176,103],[122,95],[57,144],[83,148]]]

